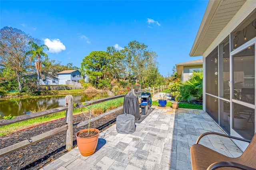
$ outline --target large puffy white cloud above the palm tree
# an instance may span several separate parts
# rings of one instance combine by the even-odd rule
[[[50,40],[46,38],[44,40],[44,44],[47,45],[50,53],[59,53],[60,51],[66,49],[65,45],[62,42],[60,42],[60,39]]]

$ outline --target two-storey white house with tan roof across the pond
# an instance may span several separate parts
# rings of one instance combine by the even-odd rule
[[[81,79],[84,79],[85,82],[88,82],[88,75],[82,76],[81,72],[76,70],[65,70],[57,73],[59,79],[59,85],[66,85],[66,81],[78,82]]]

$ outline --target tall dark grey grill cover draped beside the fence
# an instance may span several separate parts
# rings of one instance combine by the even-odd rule
[[[140,105],[138,96],[132,91],[129,91],[124,96],[124,114],[134,115],[135,120],[138,121],[140,119]]]

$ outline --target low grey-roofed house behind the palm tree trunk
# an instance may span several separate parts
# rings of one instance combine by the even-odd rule
[[[37,73],[31,73],[30,75],[26,75],[28,78],[36,78],[37,79]],[[41,75],[39,75],[39,85],[58,85],[59,79],[55,76],[53,76],[51,73],[44,73],[41,72]]]

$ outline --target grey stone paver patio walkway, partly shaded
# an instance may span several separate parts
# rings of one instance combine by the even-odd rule
[[[154,109],[132,134],[119,134],[116,125],[99,135],[96,152],[81,156],[78,148],[41,170],[190,170],[190,146],[206,131],[224,133],[202,110]],[[230,157],[241,150],[228,138],[208,135],[201,144]]]

